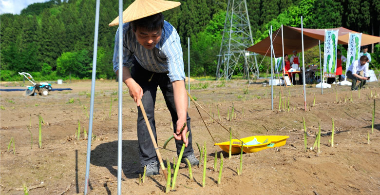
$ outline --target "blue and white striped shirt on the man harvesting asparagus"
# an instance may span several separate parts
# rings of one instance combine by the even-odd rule
[[[114,46],[114,72],[119,69],[119,29],[117,29]],[[123,66],[133,66],[133,56],[146,70],[155,73],[168,73],[171,82],[184,80],[185,72],[182,58],[182,47],[175,28],[164,21],[162,35],[156,46],[149,50],[137,42],[132,23],[123,24]]]

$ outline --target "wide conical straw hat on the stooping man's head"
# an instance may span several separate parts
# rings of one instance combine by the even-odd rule
[[[152,16],[160,12],[179,6],[180,2],[170,0],[135,0],[123,12],[123,23]],[[119,24],[119,17],[116,17],[109,26]]]

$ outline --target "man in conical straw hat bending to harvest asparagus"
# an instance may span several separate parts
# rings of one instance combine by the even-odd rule
[[[159,86],[170,111],[174,127],[175,144],[179,155],[182,144],[186,148],[183,163],[189,159],[199,164],[191,145],[190,117],[185,89],[185,72],[180,38],[175,28],[164,20],[162,11],[179,6],[167,0],[135,0],[123,13],[123,82],[137,103],[137,137],[141,166],[147,166],[147,176],[157,175],[159,163],[139,107],[140,99],[156,138],[154,105]],[[118,18],[110,23],[117,25]],[[118,75],[118,34],[115,36],[114,72]],[[187,126],[180,134],[184,123]],[[190,132],[186,138],[186,133]]]

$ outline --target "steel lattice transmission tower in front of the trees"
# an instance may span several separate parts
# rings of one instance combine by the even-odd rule
[[[247,1],[228,0],[216,77],[224,77],[228,80],[235,71],[239,71],[248,79],[250,73],[258,78],[259,68],[256,54],[246,50],[252,45]]]

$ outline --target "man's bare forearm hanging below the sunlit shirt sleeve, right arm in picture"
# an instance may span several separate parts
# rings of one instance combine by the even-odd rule
[[[186,114],[188,112],[188,98],[185,89],[185,81],[177,80],[172,82],[174,92],[174,103],[177,110],[178,119],[186,121]]]

